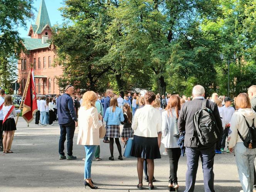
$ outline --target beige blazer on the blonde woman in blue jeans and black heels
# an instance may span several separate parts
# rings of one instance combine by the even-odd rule
[[[86,110],[82,106],[78,111],[77,145],[99,145],[99,128],[102,125],[96,108],[91,107]]]

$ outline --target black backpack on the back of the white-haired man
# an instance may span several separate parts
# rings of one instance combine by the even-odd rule
[[[197,137],[203,146],[212,145],[220,139],[220,132],[212,110],[206,107],[204,99],[202,108],[194,114],[194,125]]]

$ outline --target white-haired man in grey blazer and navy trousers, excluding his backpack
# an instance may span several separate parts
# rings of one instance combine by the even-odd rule
[[[202,146],[193,122],[194,114],[202,108],[204,94],[204,88],[200,85],[196,85],[193,88],[193,100],[182,105],[178,120],[180,133],[185,131],[184,146],[186,147],[187,156],[185,192],[194,192],[199,157],[202,161],[204,173],[204,190],[205,192],[214,192],[213,164],[216,144],[213,143],[207,147]],[[222,122],[217,105],[214,102],[207,100],[206,107],[213,112],[217,127],[222,135]]]

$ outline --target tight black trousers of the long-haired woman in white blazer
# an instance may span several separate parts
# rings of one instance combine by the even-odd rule
[[[178,170],[178,163],[181,155],[181,149],[167,148],[167,153],[169,156],[169,163],[170,163],[169,183],[173,185],[177,185],[178,184],[177,170]]]

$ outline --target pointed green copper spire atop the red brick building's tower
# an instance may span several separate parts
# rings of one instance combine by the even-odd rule
[[[47,24],[51,27],[51,22],[50,22],[50,19],[49,19],[47,8],[46,8],[44,0],[42,0],[41,4],[40,4],[40,7],[39,7],[39,11],[38,11],[38,15],[37,15],[37,20],[35,21],[35,25],[37,25],[37,29],[34,30],[34,27],[33,26],[32,27],[33,27],[33,30],[34,30],[35,33],[41,34],[42,33],[42,29]]]

